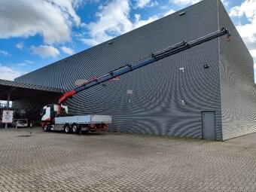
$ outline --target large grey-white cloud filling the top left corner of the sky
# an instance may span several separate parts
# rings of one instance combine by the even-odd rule
[[[71,27],[81,24],[75,7],[81,0],[2,1],[0,38],[40,34],[44,43],[70,41]]]

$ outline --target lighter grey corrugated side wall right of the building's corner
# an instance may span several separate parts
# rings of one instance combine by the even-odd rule
[[[219,21],[232,34],[232,41],[220,41],[223,139],[230,139],[256,132],[254,62],[221,3]]]

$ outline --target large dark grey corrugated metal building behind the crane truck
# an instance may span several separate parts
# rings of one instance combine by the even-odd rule
[[[254,108],[242,113],[243,116],[250,115],[245,118],[248,123],[241,121],[233,130],[232,121],[240,118],[239,113],[225,103],[236,102],[232,96],[236,89],[232,81],[234,70],[243,69],[242,79],[250,88],[245,95],[240,93],[241,101],[249,97],[246,104],[255,104],[255,94],[251,56],[230,23],[221,1],[205,0],[182,11],[186,14],[180,16],[181,11],[178,11],[120,35],[111,40],[112,44],[104,42],[15,81],[72,90],[78,79],[103,75],[171,44],[194,40],[227,26],[233,32],[232,42],[227,42],[226,37],[206,42],[123,75],[120,81],[112,81],[107,87],[99,85],[78,93],[66,104],[76,114],[112,114],[111,129],[130,133],[202,138],[201,111],[215,111],[217,140],[256,131]],[[240,68],[240,60],[236,59],[239,55],[233,50],[241,51],[244,65]],[[236,60],[237,68],[226,71],[226,65],[232,65],[232,59]],[[205,64],[209,65],[208,69],[203,67]],[[181,67],[184,72],[179,70]],[[241,74],[237,72],[236,75]],[[133,90],[133,94],[127,90]],[[248,125],[250,131],[246,130]]]

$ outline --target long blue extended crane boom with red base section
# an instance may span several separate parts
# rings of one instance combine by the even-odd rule
[[[163,50],[157,51],[155,53],[151,53],[150,55],[145,56],[145,58],[143,58],[143,59],[139,59],[138,61],[127,64],[125,66],[121,66],[120,68],[115,69],[114,71],[108,72],[107,74],[102,75],[99,78],[93,78],[93,80],[88,81],[87,83],[81,85],[80,87],[76,87],[74,90],[64,93],[63,96],[59,99],[59,105],[62,104],[62,102],[66,101],[66,99],[71,98],[76,93],[79,93],[83,90],[87,90],[90,87],[96,86],[97,84],[102,84],[106,81],[109,81],[109,80],[116,78],[120,75],[124,75],[128,72],[135,70],[135,69],[139,69],[143,66],[147,66],[147,65],[151,64],[152,62],[156,62],[156,61],[163,59],[167,56],[174,55],[183,50],[187,50],[187,49],[190,49],[191,47],[195,47],[199,44],[203,44],[207,41],[211,41],[212,39],[221,37],[222,35],[227,35],[228,41],[230,41],[230,32],[226,28],[222,28],[221,30],[212,32],[208,35],[205,35],[201,38],[197,38],[193,41],[189,41],[189,42],[181,41],[178,44],[174,44],[174,45],[167,47]]]

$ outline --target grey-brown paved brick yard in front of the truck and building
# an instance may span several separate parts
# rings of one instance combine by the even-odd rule
[[[226,142],[0,130],[0,191],[256,191],[256,134]]]

